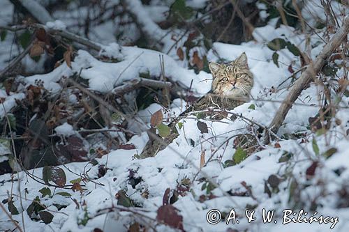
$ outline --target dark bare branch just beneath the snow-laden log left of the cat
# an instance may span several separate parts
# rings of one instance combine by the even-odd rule
[[[117,86],[112,90],[112,93],[116,95],[122,95],[124,93],[128,93],[129,91],[133,91],[135,88],[139,88],[141,86],[146,86],[151,88],[171,88],[172,83],[140,77],[138,79],[133,79],[131,80],[131,82],[128,82],[122,86]]]

